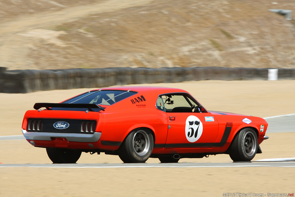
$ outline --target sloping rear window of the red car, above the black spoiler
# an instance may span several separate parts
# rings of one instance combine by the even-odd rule
[[[90,103],[98,105],[113,105],[120,100],[137,94],[130,90],[95,90],[73,97],[63,103]]]

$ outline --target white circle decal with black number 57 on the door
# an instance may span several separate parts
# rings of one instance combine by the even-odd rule
[[[186,118],[185,122],[185,134],[186,139],[189,142],[197,141],[203,132],[203,124],[199,118],[194,115],[190,115]]]

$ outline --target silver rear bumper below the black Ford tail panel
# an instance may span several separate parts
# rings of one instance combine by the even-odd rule
[[[22,130],[22,134],[27,140],[45,140],[51,141],[52,138],[61,137],[68,141],[76,142],[96,142],[99,141],[101,133],[82,134],[82,133],[42,133],[42,132],[28,132]]]

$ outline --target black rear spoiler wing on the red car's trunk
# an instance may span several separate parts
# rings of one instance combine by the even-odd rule
[[[50,108],[88,108],[89,111],[94,111],[91,108],[99,108],[104,111],[104,108],[97,104],[87,104],[87,103],[48,103],[48,102],[38,102],[35,103],[34,109],[38,110],[40,108],[46,108],[47,110],[52,110]]]

